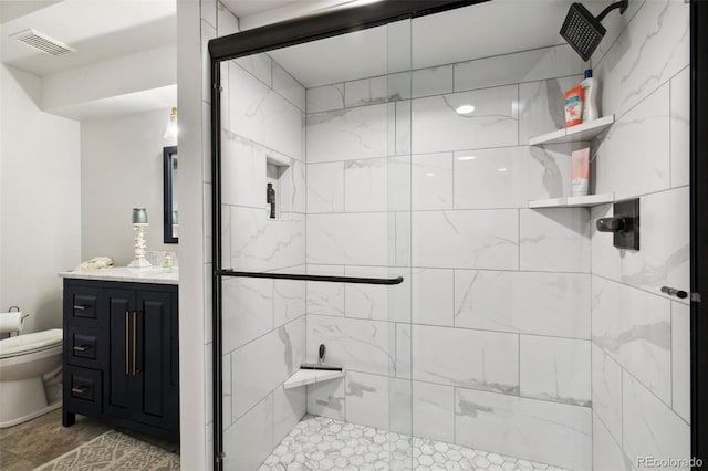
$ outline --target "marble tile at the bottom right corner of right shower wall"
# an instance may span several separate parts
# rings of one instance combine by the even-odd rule
[[[690,426],[631,375],[622,377],[622,443],[633,464],[638,457],[688,460]]]

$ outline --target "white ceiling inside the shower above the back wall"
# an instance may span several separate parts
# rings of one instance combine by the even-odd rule
[[[585,4],[595,11],[610,1]],[[269,54],[305,87],[450,64],[563,44],[559,31],[571,3],[493,0]]]

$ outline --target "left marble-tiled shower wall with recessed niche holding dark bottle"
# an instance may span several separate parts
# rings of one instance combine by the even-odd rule
[[[303,273],[305,90],[267,54],[225,63],[221,73],[222,266]],[[274,220],[267,165],[280,166]],[[304,360],[306,286],[225,279],[222,290],[225,468],[249,470],[306,410],[304,389],[282,387]]]

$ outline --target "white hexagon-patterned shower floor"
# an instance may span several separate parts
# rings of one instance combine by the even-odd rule
[[[565,471],[319,416],[305,416],[292,429],[259,468],[267,470]]]

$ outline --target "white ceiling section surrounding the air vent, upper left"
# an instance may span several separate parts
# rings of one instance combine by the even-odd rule
[[[27,14],[2,23],[0,59],[4,64],[39,76],[175,43],[177,39],[175,0],[29,3],[48,6],[28,9]],[[77,52],[54,57],[9,38],[28,28],[48,34]]]

